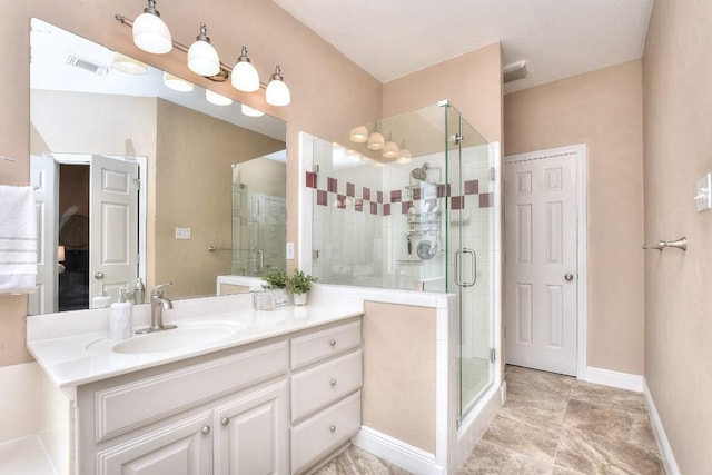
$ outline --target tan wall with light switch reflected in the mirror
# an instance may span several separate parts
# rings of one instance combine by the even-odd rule
[[[158,101],[157,137],[156,208],[149,216],[155,275],[148,288],[172,281],[169,297],[215,295],[216,276],[230,274],[230,255],[207,249],[230,247],[231,165],[285,145],[165,100]],[[191,238],[176,239],[176,227],[190,228]]]

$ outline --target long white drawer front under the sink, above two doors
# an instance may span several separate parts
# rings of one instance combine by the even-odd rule
[[[286,358],[287,343],[281,342],[97,390],[96,441],[283,375]]]

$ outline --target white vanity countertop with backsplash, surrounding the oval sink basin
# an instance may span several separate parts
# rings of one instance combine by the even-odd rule
[[[180,327],[200,321],[244,325],[234,335],[170,352],[125,354],[111,348],[121,340],[107,338],[108,309],[81,310],[28,317],[28,350],[59,388],[72,388],[220,349],[234,348],[363,315],[363,300],[320,297],[304,307],[255,310],[251,294],[209,297],[174,303],[164,314],[164,324]],[[149,305],[134,307],[134,328],[148,326]],[[167,330],[171,331],[171,330]],[[146,338],[135,335],[135,338]],[[126,342],[126,340],[123,340]]]

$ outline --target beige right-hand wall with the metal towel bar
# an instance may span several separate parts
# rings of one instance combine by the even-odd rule
[[[695,184],[712,171],[712,3],[656,1],[643,56],[645,239],[686,236],[686,253],[645,253],[645,380],[683,474],[712,466],[712,212]]]

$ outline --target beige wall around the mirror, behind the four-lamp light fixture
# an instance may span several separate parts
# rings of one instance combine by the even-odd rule
[[[187,71],[185,55],[174,51],[151,56],[131,43],[130,29],[113,20],[115,13],[136,17],[145,2],[135,0],[29,0],[6,2],[0,16],[0,52],[4,75],[0,76],[0,155],[17,161],[0,159],[0,184],[24,185],[29,177],[29,24],[37,17],[127,52],[172,73],[187,77],[248,106],[287,121],[288,189],[297,196],[296,157],[298,132],[326,136],[344,130],[352,123],[373,121],[380,117],[382,85],[338,53],[330,44],[289,17],[270,1],[214,0],[205,2],[159,2],[161,18],[169,24],[174,38],[187,43],[196,36],[197,21],[205,21],[212,44],[226,62],[234,61],[240,44],[249,47],[253,63],[263,81],[268,80],[274,66],[283,66],[284,77],[293,96],[286,108],[273,108],[264,102],[264,91],[241,93],[228,83],[217,85]],[[288,200],[288,239],[297,241],[296,199]],[[29,359],[24,350],[24,316],[27,297],[0,297],[0,365]]]

